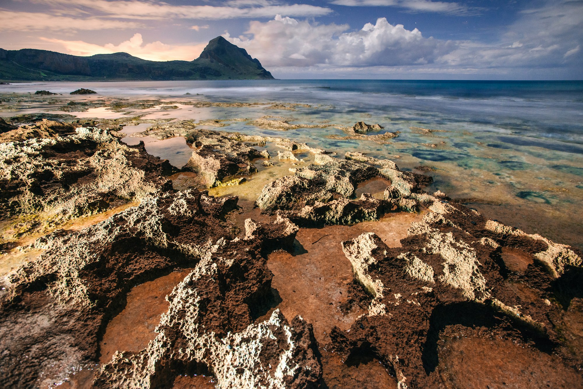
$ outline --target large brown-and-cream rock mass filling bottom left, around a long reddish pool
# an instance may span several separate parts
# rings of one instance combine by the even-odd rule
[[[129,288],[194,264],[170,297],[152,349],[115,356],[97,374],[96,387],[159,387],[157,382],[167,381],[158,380],[196,363],[208,365],[221,387],[242,380],[279,387],[317,381],[321,372],[309,324],[294,319],[290,326],[278,313],[252,324],[271,296],[266,254],[289,249],[297,227],[282,218],[272,225],[248,220],[244,238],[233,239],[223,216],[236,203],[236,197],[213,199],[196,190],[167,193],[80,232],[34,243],[44,250],[40,259],[10,274],[0,293],[3,384],[50,385],[59,380],[58,374],[51,377],[51,365],[90,363],[97,357],[99,329],[118,312]],[[32,333],[24,326],[38,320],[50,326]],[[272,336],[280,341],[272,344]],[[191,351],[182,346],[188,344]],[[23,353],[30,355],[26,362],[20,361]],[[229,354],[241,362],[233,365],[224,358]],[[265,360],[274,361],[272,370],[261,368]]]

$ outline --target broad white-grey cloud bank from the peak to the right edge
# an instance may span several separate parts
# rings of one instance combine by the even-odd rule
[[[389,3],[392,0],[338,0]],[[278,73],[363,77],[395,72],[426,75],[450,73],[531,75],[554,79],[559,73],[583,76],[583,7],[578,1],[549,1],[524,10],[494,43],[426,38],[422,32],[392,25],[381,17],[358,31],[347,24],[318,24],[276,16],[268,22],[250,22],[243,36],[227,40],[244,47]],[[571,69],[571,70],[568,70]]]

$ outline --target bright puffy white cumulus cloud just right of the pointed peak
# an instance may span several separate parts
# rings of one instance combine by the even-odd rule
[[[448,41],[424,38],[381,17],[359,31],[345,32],[346,24],[317,24],[276,16],[269,22],[251,22],[245,36],[224,37],[248,49],[267,66],[395,66],[433,62],[451,49]]]

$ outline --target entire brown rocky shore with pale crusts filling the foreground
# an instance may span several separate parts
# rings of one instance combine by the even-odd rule
[[[374,387],[583,385],[581,253],[425,192],[429,176],[363,153],[178,122],[147,132],[194,147],[181,169],[194,184],[175,190],[178,169],[143,143],[121,143],[117,125],[1,124],[0,261],[14,264],[0,279],[2,387],[178,388],[199,376],[217,388],[373,387],[359,380],[377,367],[385,375]],[[273,157],[266,144],[298,164],[264,186],[254,210],[209,195],[233,180],[244,188],[255,162]],[[301,153],[314,163],[299,163]],[[381,195],[365,191],[379,183]],[[394,241],[366,231],[409,215],[416,221],[406,218]],[[322,232],[338,226],[361,229],[330,243],[343,256],[318,252]],[[310,231],[322,237],[308,244]],[[291,316],[296,289],[274,288],[270,270],[279,254],[293,266],[307,253],[351,274],[338,295],[314,286],[321,276],[301,280],[312,285],[301,292],[330,306],[317,319],[301,305]],[[161,296],[168,309],[147,346],[99,363],[132,288],[187,268]],[[332,313],[342,326],[322,324]]]

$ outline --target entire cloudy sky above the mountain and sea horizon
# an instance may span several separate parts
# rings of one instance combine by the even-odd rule
[[[583,79],[583,0],[0,0],[0,47],[197,58],[280,79]]]

